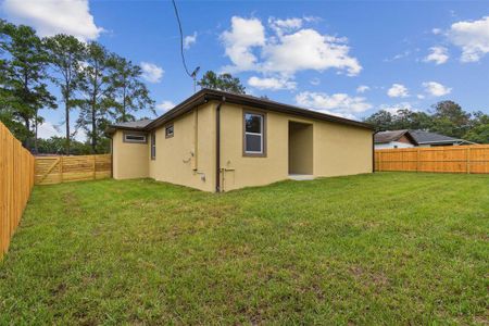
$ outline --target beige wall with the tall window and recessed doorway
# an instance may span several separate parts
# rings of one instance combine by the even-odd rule
[[[239,105],[222,108],[221,165],[227,170],[223,185],[226,191],[288,178],[289,121],[312,124],[314,177],[372,172],[372,130],[269,111],[265,112],[266,156],[243,156],[242,114]]]

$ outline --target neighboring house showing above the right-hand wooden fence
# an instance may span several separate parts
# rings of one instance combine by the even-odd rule
[[[464,143],[473,142],[424,130],[404,129],[375,134],[375,149],[459,146]]]

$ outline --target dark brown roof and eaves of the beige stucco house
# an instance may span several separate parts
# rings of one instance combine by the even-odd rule
[[[366,129],[373,129],[373,126],[336,115],[319,113],[317,111],[306,110],[293,105],[283,104],[279,102],[271,101],[267,99],[260,99],[252,96],[247,95],[238,95],[226,92],[216,89],[206,89],[203,88],[199,90],[197,93],[192,95],[172,110],[167,111],[165,114],[159,116],[153,121],[143,121],[143,122],[134,122],[134,123],[124,123],[124,124],[115,124],[108,127],[106,131],[109,134],[113,134],[116,129],[139,129],[143,131],[150,131],[174,118],[177,116],[185,114],[186,112],[191,111],[197,105],[208,103],[209,101],[225,101],[228,103],[235,103],[244,106],[258,108],[263,110],[269,110],[291,115],[305,116],[310,118],[317,118],[334,123],[340,123],[350,126],[362,127]],[[136,125],[135,125],[136,124]],[[139,125],[140,124],[140,125]]]

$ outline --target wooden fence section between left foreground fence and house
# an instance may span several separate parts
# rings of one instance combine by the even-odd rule
[[[110,178],[112,155],[36,156],[36,185]]]

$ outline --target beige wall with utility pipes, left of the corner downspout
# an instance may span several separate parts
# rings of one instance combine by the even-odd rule
[[[156,158],[149,161],[149,176],[161,181],[205,191],[215,189],[215,106],[201,105],[179,116],[174,136],[165,138],[165,126],[155,130]],[[150,147],[148,148],[150,155]]]

